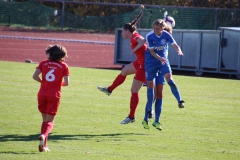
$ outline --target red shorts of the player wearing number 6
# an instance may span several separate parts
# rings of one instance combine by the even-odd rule
[[[38,110],[41,113],[56,115],[60,104],[60,98],[38,94]]]

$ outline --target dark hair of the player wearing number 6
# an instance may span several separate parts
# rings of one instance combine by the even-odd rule
[[[65,47],[56,44],[54,46],[50,45],[46,49],[46,54],[49,55],[48,59],[52,61],[64,61],[64,57],[67,56],[67,50]]]

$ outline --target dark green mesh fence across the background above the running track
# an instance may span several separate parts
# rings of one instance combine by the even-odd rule
[[[62,3],[62,10],[54,15],[55,8],[47,7],[38,1],[15,2],[0,0],[0,25],[31,27],[38,29],[94,30],[114,31],[127,22],[131,22],[140,12],[137,4],[89,3],[89,5],[119,5],[135,7],[132,12],[111,16],[80,16],[65,11],[65,4],[86,4],[87,2],[57,1]],[[155,19],[163,18],[165,11],[174,17],[175,29],[216,30],[218,27],[240,27],[240,9],[189,8],[145,5],[146,9],[139,22],[139,28],[151,28]]]

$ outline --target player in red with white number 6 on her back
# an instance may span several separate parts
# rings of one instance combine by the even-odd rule
[[[53,121],[60,104],[61,86],[68,86],[69,83],[69,68],[63,62],[67,57],[66,48],[61,45],[49,46],[46,54],[48,60],[42,61],[33,74],[33,79],[41,83],[38,92],[38,110],[43,119],[38,146],[40,152],[50,151],[47,147],[47,139],[53,129]]]

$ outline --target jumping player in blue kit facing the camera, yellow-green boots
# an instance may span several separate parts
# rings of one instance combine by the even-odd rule
[[[178,55],[183,55],[181,48],[178,46],[172,35],[165,30],[167,24],[162,19],[157,19],[153,22],[153,31],[150,31],[146,35],[146,42],[148,49],[145,52],[145,70],[147,80],[147,106],[152,105],[154,99],[154,81],[156,74],[159,72],[159,76],[156,78],[160,81],[164,81],[163,75],[171,88],[171,91],[178,101],[178,107],[184,108],[184,101],[181,99],[180,92],[176,83],[172,77],[172,70],[167,58],[168,43],[177,51]],[[155,101],[155,121],[153,126],[158,130],[162,130],[159,119],[162,110],[162,91],[163,85],[159,82],[156,86],[156,101]],[[147,111],[147,109],[146,109]],[[142,122],[144,128],[149,129],[147,115]]]

